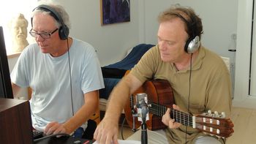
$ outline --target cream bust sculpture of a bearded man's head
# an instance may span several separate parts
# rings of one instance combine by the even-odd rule
[[[24,15],[19,13],[17,16],[10,20],[10,33],[12,35],[12,52],[20,53],[29,42],[26,37],[28,36],[28,20]]]

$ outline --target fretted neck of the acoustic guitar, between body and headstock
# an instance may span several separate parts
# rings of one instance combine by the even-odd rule
[[[154,115],[161,116],[165,115],[167,107],[164,105],[159,105],[154,102],[148,102],[151,107],[148,107],[148,112]],[[179,110],[174,110],[170,108],[170,118],[173,118],[176,122],[183,124],[184,126],[191,126],[195,128],[195,116],[188,113],[181,112]]]

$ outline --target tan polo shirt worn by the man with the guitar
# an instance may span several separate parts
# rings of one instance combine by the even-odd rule
[[[208,110],[225,112],[230,116],[231,112],[231,81],[230,73],[216,53],[201,46],[195,62],[192,64],[190,96],[189,73],[190,67],[178,71],[173,64],[161,60],[158,45],[148,50],[131,71],[132,75],[141,82],[151,79],[165,79],[173,88],[176,105],[184,112],[200,114]],[[178,129],[168,129],[170,141],[185,143],[186,126]],[[197,129],[188,127],[187,140],[195,139],[203,133]]]

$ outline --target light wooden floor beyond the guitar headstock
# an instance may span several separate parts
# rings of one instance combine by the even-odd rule
[[[256,110],[241,107],[233,107],[231,121],[234,124],[234,133],[227,138],[227,144],[251,144],[256,143]],[[123,128],[123,137],[126,139],[132,134],[128,127]],[[119,129],[118,139],[121,137],[121,128]]]

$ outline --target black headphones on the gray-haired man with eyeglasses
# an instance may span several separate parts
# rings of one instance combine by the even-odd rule
[[[67,39],[69,36],[69,28],[65,25],[63,22],[61,16],[59,15],[56,10],[54,10],[52,7],[49,7],[48,5],[39,5],[38,7],[34,8],[34,10],[43,10],[45,12],[50,12],[50,15],[53,16],[59,23],[61,23],[61,27],[59,27],[59,37],[61,39]],[[32,12],[34,12],[34,10]],[[31,24],[32,24],[33,18],[31,18]],[[33,27],[33,26],[32,26]]]

